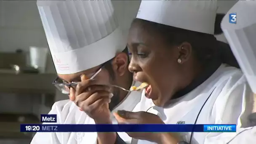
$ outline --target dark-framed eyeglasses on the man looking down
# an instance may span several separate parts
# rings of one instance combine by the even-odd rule
[[[93,73],[93,75],[91,76],[90,79],[93,79],[94,77],[96,77],[96,75],[99,74],[99,72],[101,71],[101,69],[104,67],[104,64],[95,72]],[[60,80],[59,77],[57,77],[54,81],[53,81],[53,85],[55,85],[55,87],[61,91],[61,93],[64,94],[69,94],[70,93],[70,88],[76,88],[77,84],[79,82],[72,82],[72,83],[59,83],[58,81]]]

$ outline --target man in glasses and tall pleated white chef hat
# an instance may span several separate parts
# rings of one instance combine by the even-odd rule
[[[56,102],[49,114],[57,115],[57,124],[117,123],[111,112],[132,110],[141,93],[105,86],[129,89],[134,84],[128,71],[126,42],[111,1],[39,0],[37,7],[58,73],[53,84],[72,100]],[[95,80],[89,80],[94,84],[90,90],[81,90],[81,79],[92,77]],[[77,90],[82,94],[74,96]],[[118,134],[125,142],[131,141],[126,133]],[[111,136],[96,132],[36,133],[31,144],[94,144],[96,140],[111,141]]]

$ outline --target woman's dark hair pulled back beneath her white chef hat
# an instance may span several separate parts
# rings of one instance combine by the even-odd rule
[[[219,18],[219,17],[218,17]],[[215,25],[218,25],[220,29],[221,19],[216,21]],[[171,27],[164,24],[158,24],[152,21],[134,19],[132,25],[139,25],[143,29],[147,29],[147,32],[153,35],[160,36],[164,42],[170,45],[180,45],[183,42],[188,42],[192,45],[195,56],[201,64],[208,64],[213,59],[220,59],[221,62],[227,62],[225,54],[220,53],[219,41],[216,40],[214,35],[205,34],[202,32],[190,31],[187,29],[181,29],[177,27]],[[219,30],[218,29],[218,30]],[[221,31],[222,32],[222,31]],[[223,43],[221,43],[223,46]],[[230,50],[229,45],[224,45]],[[227,51],[226,51],[227,52]],[[231,52],[232,51],[228,51]],[[229,53],[230,54],[230,53]]]

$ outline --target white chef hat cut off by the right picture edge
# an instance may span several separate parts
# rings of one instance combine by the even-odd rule
[[[229,23],[229,14],[237,14],[237,24]],[[248,83],[256,93],[256,1],[238,1],[224,16],[221,29]]]

